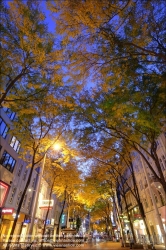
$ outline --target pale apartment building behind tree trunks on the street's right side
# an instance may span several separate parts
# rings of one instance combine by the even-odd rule
[[[162,133],[157,140],[157,155],[162,167],[163,174],[166,178],[166,154],[165,154],[165,134]],[[145,214],[145,221],[147,223],[151,239],[154,243],[164,243],[164,233],[161,228],[164,227],[166,231],[166,194],[161,184],[155,179],[154,175],[148,168],[143,157],[137,152],[133,152],[133,166],[134,175],[136,178],[136,184],[138,187],[139,197]],[[150,161],[150,158],[148,158]],[[157,168],[154,163],[154,170],[157,172]],[[127,180],[128,185],[125,185],[125,197],[121,196],[122,216],[121,222],[123,230],[126,235],[131,232],[131,223],[133,226],[134,234],[137,241],[141,241],[142,237],[146,237],[146,227],[144,220],[141,216],[139,205],[134,198],[131,190],[134,188],[134,184],[131,178],[131,173],[128,169],[123,173],[124,178]],[[128,212],[127,213],[127,208]],[[129,217],[131,223],[129,222]]]

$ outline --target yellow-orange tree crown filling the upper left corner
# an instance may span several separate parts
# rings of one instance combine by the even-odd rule
[[[60,82],[53,46],[39,1],[2,1],[0,105],[40,99]]]

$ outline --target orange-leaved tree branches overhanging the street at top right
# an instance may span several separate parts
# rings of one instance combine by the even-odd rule
[[[164,72],[162,0],[54,0],[48,7],[56,13],[67,75],[73,81],[84,83],[93,76],[107,88],[111,80],[120,85],[122,75],[138,79],[144,68],[152,75]]]

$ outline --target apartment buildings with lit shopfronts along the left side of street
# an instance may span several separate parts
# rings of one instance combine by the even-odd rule
[[[21,142],[10,134],[10,127],[15,113],[7,108],[0,109],[0,242],[6,242],[14,221],[14,216],[25,188],[30,169],[27,163],[19,158]],[[41,167],[36,168],[24,197],[14,235],[20,241],[26,241],[28,234],[42,234],[45,223],[46,207],[41,203],[49,199],[49,185],[40,176]],[[55,235],[61,210],[61,204],[52,195],[52,204],[46,222],[46,232]],[[15,240],[15,239],[13,239]]]

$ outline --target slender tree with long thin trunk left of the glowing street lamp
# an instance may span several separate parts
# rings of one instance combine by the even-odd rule
[[[35,167],[39,166],[51,146],[59,140],[64,128],[62,116],[59,115],[58,111],[47,113],[46,107],[44,108],[42,104],[35,106],[35,102],[33,102],[32,105],[36,108],[36,113],[29,115],[20,114],[20,116],[18,113],[17,121],[11,130],[16,138],[21,141],[23,149],[21,157],[27,162],[27,167],[30,167],[30,173],[18,204],[6,249],[10,248],[10,242],[12,241],[22,203],[31,181],[32,172]],[[49,107],[47,108],[49,109]]]

